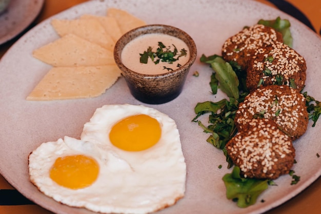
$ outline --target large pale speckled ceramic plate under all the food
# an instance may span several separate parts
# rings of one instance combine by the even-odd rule
[[[306,90],[317,100],[321,100],[318,92],[321,80],[321,40],[305,25],[283,12],[254,1],[182,2],[171,1],[169,4],[169,1],[149,0],[91,1],[59,13],[54,18],[72,19],[84,13],[105,15],[108,7],[121,8],[148,24],[167,24],[185,30],[195,40],[198,59],[202,53],[220,54],[220,48],[229,36],[243,26],[255,24],[260,18],[288,18],[292,24],[294,49],[307,61]],[[28,154],[41,143],[55,141],[65,135],[79,138],[84,123],[89,121],[97,107],[104,104],[141,103],[132,98],[123,78],[98,98],[26,101],[28,93],[50,68],[31,55],[35,48],[58,38],[50,26],[50,19],[20,38],[0,62],[0,172],[27,198],[53,212],[91,213],[85,209],[59,204],[39,192],[28,180]],[[192,75],[195,70],[199,72],[198,77]],[[282,176],[275,181],[278,186],[270,186],[258,198],[257,203],[248,208],[238,208],[234,202],[226,199],[222,177],[231,170],[226,168],[223,152],[208,144],[208,134],[191,122],[197,102],[218,101],[223,98],[222,94],[211,95],[209,92],[211,72],[207,65],[196,60],[178,98],[162,105],[147,105],[167,113],[176,121],[188,170],[185,198],[160,212],[262,213],[294,197],[315,181],[321,174],[321,167],[316,163],[320,161],[316,153],[321,154],[321,121],[314,128],[310,122],[306,134],[294,143],[297,164],[293,170],[301,177],[298,184],[290,185],[291,177]],[[207,120],[207,116],[204,116],[204,120]],[[218,169],[220,164],[223,165],[222,169]]]

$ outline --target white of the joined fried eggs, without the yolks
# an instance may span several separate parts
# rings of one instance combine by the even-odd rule
[[[162,135],[143,151],[113,146],[109,131],[118,121],[135,114],[155,118]],[[58,157],[84,154],[99,164],[97,180],[86,188],[56,184],[49,171]],[[175,121],[141,105],[105,105],[84,125],[81,140],[65,137],[43,143],[29,155],[31,182],[54,200],[102,213],[148,213],[173,205],[184,197],[186,164]]]

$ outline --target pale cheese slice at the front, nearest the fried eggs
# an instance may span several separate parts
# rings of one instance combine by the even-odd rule
[[[29,101],[92,98],[121,76],[116,65],[53,67],[27,96]]]

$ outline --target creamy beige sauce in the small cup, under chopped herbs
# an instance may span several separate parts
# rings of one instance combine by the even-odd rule
[[[166,46],[166,48],[170,47],[171,51],[174,50],[175,46],[178,55],[180,54],[180,50],[185,49],[187,51],[187,55],[180,56],[177,61],[173,62],[173,64],[160,61],[158,64],[155,65],[155,63],[150,59],[150,57],[148,59],[147,64],[141,63],[139,61],[141,55],[139,54],[144,53],[144,51],[147,51],[148,47],[152,48],[152,52],[156,52],[156,49],[158,48],[158,42],[162,42]],[[176,59],[177,56],[175,56],[174,58]],[[177,65],[185,65],[189,60],[189,57],[189,49],[185,42],[183,42],[179,38],[163,33],[149,33],[142,36],[138,36],[137,38],[129,42],[122,51],[123,64],[132,71],[143,74],[162,74],[169,72],[170,70],[164,69],[164,66],[166,68],[176,70],[178,68]]]

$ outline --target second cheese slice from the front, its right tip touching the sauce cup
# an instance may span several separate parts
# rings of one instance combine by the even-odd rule
[[[33,56],[49,65],[114,65],[113,52],[74,34],[67,34],[33,51]]]

